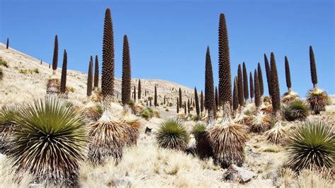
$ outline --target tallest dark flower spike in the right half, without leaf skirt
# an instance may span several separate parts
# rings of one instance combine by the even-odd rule
[[[230,53],[228,42],[227,24],[225,23],[225,15],[220,14],[220,21],[218,26],[218,79],[220,97],[223,102],[223,107],[232,105],[232,83],[230,73]],[[225,105],[229,103],[229,105]],[[223,110],[230,113],[229,110]],[[230,114],[229,114],[230,115]],[[225,114],[228,116],[228,114]]]

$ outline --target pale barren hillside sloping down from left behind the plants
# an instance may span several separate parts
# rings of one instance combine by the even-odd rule
[[[50,53],[52,57],[52,53]],[[16,49],[6,49],[6,45],[0,43],[0,68],[4,78],[0,81],[0,107],[12,102],[23,102],[33,98],[39,98],[46,93],[47,79],[52,75],[49,62],[42,61],[28,54],[18,52]],[[59,66],[61,66],[59,56]],[[100,70],[101,72],[101,70]],[[61,68],[57,69],[57,77],[61,77]],[[132,79],[131,84],[136,86],[139,78]],[[69,98],[81,100],[86,97],[87,74],[80,71],[68,70],[66,86],[73,88],[74,92],[69,93]],[[141,79],[142,98],[153,97],[154,88],[157,87],[158,103],[163,102],[166,96],[168,102],[176,103],[178,89],[182,88],[184,98],[194,98],[193,90],[171,81],[156,79]],[[144,91],[147,90],[147,96]],[[115,81],[115,98],[121,93],[121,80]],[[137,93],[136,93],[137,94]],[[120,100],[119,95],[118,100]]]

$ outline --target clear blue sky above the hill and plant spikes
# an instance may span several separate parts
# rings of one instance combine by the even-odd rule
[[[111,8],[115,75],[122,75],[122,42],[127,34],[131,76],[175,81],[204,88],[206,47],[211,49],[218,84],[218,18],[225,13],[232,74],[243,61],[253,71],[261,63],[267,95],[264,53],[276,55],[281,94],[286,91],[284,56],[293,90],[305,97],[312,88],[309,46],[317,62],[319,88],[335,94],[334,1],[17,1],[0,0],[0,41],[43,61],[52,61],[59,36],[69,69],[87,72],[90,55],[101,64],[105,8]]]

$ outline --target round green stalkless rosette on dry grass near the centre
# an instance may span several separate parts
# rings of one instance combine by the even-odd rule
[[[158,127],[155,139],[161,148],[184,151],[187,148],[189,134],[179,119],[167,119]]]

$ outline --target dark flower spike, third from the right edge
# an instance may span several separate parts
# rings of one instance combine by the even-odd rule
[[[271,52],[271,99],[272,99],[272,113],[278,116],[281,110],[281,93],[279,90],[278,72],[276,66],[276,59],[274,52]]]

